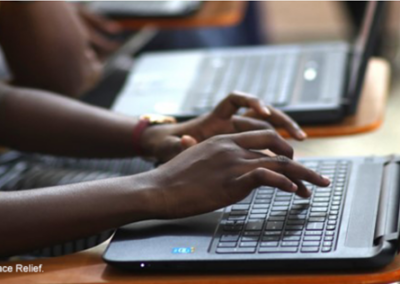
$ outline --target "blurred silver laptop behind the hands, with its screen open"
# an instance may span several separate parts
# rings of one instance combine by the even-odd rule
[[[253,94],[299,123],[335,122],[354,114],[384,2],[370,1],[354,44],[229,47],[144,53],[112,107],[128,115],[189,119],[233,90]]]

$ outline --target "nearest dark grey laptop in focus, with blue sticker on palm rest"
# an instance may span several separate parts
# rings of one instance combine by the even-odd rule
[[[118,229],[104,260],[133,271],[371,269],[399,248],[400,157],[308,158],[332,184],[271,187],[211,213]]]

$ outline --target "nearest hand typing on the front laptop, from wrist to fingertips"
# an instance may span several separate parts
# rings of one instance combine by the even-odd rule
[[[269,148],[279,156],[254,150]],[[290,159],[293,150],[276,132],[251,131],[210,138],[150,171],[156,218],[181,218],[213,211],[245,198],[259,186],[302,197],[330,181]]]

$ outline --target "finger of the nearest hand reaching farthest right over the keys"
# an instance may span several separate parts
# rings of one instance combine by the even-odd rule
[[[246,160],[244,163],[249,168],[262,167],[281,173],[291,180],[304,180],[318,186],[328,186],[330,180],[303,165],[288,159],[285,156],[268,157],[264,156],[255,160]]]

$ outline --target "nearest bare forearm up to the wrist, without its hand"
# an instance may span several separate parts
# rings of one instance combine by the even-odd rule
[[[17,192],[0,198],[0,256],[154,218],[147,174]]]

